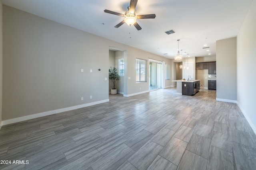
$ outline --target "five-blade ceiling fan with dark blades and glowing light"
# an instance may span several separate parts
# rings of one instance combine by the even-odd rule
[[[104,10],[104,12],[124,17],[124,20],[122,22],[118,23],[115,26],[115,28],[118,28],[121,25],[123,25],[124,23],[127,23],[130,26],[134,25],[134,27],[136,27],[136,29],[140,30],[142,28],[136,22],[136,20],[137,19],[156,18],[156,14],[136,15],[134,11],[135,11],[137,2],[138,2],[138,0],[131,0],[130,1],[130,6],[128,6],[128,11],[126,11],[125,14],[120,14],[118,12],[114,12],[114,11],[110,11],[110,10]]]

